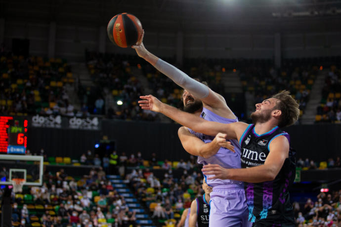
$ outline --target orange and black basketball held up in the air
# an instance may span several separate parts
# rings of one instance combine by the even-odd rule
[[[120,13],[111,18],[107,27],[110,41],[120,47],[134,45],[142,35],[141,22],[130,13]]]

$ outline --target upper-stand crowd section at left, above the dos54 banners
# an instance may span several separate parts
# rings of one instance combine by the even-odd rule
[[[66,60],[1,52],[0,76],[2,115],[83,115],[69,102],[75,79]]]

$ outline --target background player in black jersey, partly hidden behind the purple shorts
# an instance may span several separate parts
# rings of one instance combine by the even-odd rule
[[[210,193],[212,187],[206,184],[205,178],[202,185],[205,193],[193,200],[191,214],[189,215],[189,227],[209,227],[210,221]]]

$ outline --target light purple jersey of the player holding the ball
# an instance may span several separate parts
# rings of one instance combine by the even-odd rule
[[[222,116],[219,116],[217,114],[214,114],[212,111],[203,108],[203,111],[201,113],[201,117],[205,120],[214,121],[214,122],[220,122],[220,123],[233,123],[238,122],[238,118],[236,119],[228,119],[224,118]],[[208,136],[202,133],[194,132],[193,130],[189,129],[189,131],[194,134],[196,137],[204,141],[205,143],[210,143],[214,136]],[[201,156],[198,156],[198,163],[207,165],[207,164],[218,164],[224,168],[229,169],[239,169],[241,168],[241,161],[240,161],[240,144],[237,140],[228,140],[231,142],[231,144],[234,146],[234,150],[230,151],[226,148],[220,148],[216,154],[214,154],[212,157],[204,158]],[[204,175],[205,176],[205,175]],[[234,181],[234,180],[221,180],[221,179],[213,179],[213,180],[207,180],[207,177],[210,177],[211,175],[205,176],[206,182],[209,186],[215,187],[215,186],[224,186],[224,185],[231,185],[236,184],[238,187],[243,187],[243,183],[240,181]],[[220,188],[220,187],[219,187]]]

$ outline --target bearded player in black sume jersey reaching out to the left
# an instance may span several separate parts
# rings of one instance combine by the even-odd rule
[[[212,179],[231,179],[246,182],[245,191],[249,218],[255,227],[295,227],[289,186],[295,175],[294,151],[290,149],[289,135],[280,128],[294,124],[299,117],[298,103],[288,91],[282,91],[256,104],[251,114],[254,124],[230,124],[206,121],[182,112],[155,97],[141,96],[145,110],[167,115],[183,126],[207,135],[216,135],[217,141],[238,139],[241,144],[241,169],[225,169],[216,164],[205,165],[203,173]]]

